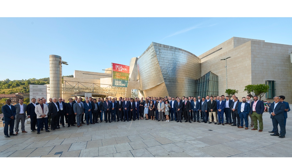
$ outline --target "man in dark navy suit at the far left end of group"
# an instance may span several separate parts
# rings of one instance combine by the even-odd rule
[[[16,109],[15,109],[15,106],[10,105],[11,104],[10,99],[7,99],[5,101],[5,103],[6,103],[6,105],[2,106],[2,108],[1,108],[3,115],[4,115],[4,121],[5,121],[4,135],[5,135],[5,137],[16,136],[17,134],[13,133]],[[10,136],[8,135],[8,126],[9,126],[9,135]]]

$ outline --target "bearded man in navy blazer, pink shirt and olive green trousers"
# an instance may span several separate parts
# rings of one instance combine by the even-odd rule
[[[257,96],[254,96],[254,101],[251,102],[251,117],[254,121],[254,129],[257,130],[257,120],[259,120],[260,130],[259,132],[263,132],[263,113],[265,111],[264,102],[258,100]]]

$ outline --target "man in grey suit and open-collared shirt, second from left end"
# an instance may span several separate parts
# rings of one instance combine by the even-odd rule
[[[16,109],[16,115],[15,115],[15,124],[14,124],[14,128],[15,128],[15,134],[18,134],[18,126],[19,126],[19,122],[21,121],[21,132],[22,133],[27,133],[24,130],[24,122],[25,122],[25,117],[26,117],[26,108],[27,105],[23,103],[23,99],[19,99],[19,103],[15,104],[15,109]]]

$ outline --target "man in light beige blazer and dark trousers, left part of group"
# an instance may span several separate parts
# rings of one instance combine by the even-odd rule
[[[41,129],[45,125],[46,132],[50,132],[48,130],[48,112],[49,108],[47,105],[43,103],[43,99],[40,100],[40,104],[35,106],[35,114],[37,115],[37,120],[38,120],[38,133],[41,133]]]

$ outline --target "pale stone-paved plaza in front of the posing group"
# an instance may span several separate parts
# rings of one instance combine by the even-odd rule
[[[201,119],[200,119],[201,121]],[[290,112],[286,137],[270,136],[270,114],[263,132],[214,123],[156,120],[65,126],[41,134],[5,138],[0,128],[0,157],[292,157]]]

